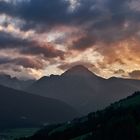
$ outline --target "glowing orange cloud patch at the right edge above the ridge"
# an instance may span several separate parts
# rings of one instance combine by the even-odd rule
[[[132,37],[108,45],[108,47],[101,47],[102,49],[97,49],[97,51],[104,56],[102,61],[104,64],[113,65],[118,63],[121,66],[130,65],[134,67],[133,64],[138,65],[140,63],[139,44],[139,40]]]

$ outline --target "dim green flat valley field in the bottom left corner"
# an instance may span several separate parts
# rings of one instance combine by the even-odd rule
[[[40,128],[16,128],[0,132],[0,140],[14,140],[15,138],[28,137],[33,135]]]

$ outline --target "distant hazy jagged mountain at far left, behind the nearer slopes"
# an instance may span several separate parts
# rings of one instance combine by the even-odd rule
[[[12,78],[9,75],[0,74],[0,85],[18,90],[24,90],[25,88],[33,84],[33,82],[35,82],[35,80],[19,80],[15,77]]]

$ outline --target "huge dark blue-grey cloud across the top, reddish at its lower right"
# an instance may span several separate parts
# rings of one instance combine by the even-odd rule
[[[78,27],[85,35],[74,41],[71,48],[86,49],[95,42],[107,44],[136,35],[140,12],[131,9],[132,1],[79,0],[73,11],[68,0],[0,2],[0,12],[23,19],[23,30],[43,32],[57,26]]]

